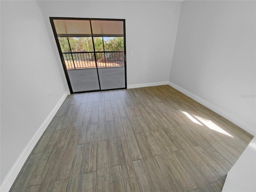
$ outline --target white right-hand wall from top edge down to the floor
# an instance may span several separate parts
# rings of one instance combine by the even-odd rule
[[[255,8],[255,1],[183,2],[170,72],[170,85],[254,135]]]

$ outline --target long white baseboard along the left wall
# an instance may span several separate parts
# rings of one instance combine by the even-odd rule
[[[64,102],[68,94],[69,94],[68,92],[65,92],[63,94],[63,96],[60,98],[58,103],[54,106],[50,114],[46,117],[44,122],[38,128],[34,136],[31,138],[31,140],[22,150],[22,152],[20,153],[20,156],[18,157],[18,159],[16,160],[16,162],[14,163],[14,165],[12,166],[12,168],[10,169],[6,177],[4,178],[0,187],[1,192],[8,192],[10,190],[10,188],[12,187],[12,184],[14,183],[16,177],[18,176],[28,156],[32,152],[34,146],[36,146],[36,143],[38,142],[38,140],[40,139],[40,137],[42,136],[42,134],[44,133],[44,131],[46,130],[46,128],[48,127],[52,119],[54,118],[55,114],[59,110],[60,106],[62,105],[62,103]]]

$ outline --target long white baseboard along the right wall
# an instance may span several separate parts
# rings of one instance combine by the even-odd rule
[[[198,103],[206,106],[210,110],[213,110],[217,114],[221,115],[222,117],[226,118],[227,120],[231,121],[232,123],[236,124],[237,126],[241,127],[248,133],[252,134],[253,136],[256,136],[256,130],[253,126],[247,124],[246,122],[242,121],[238,117],[233,116],[232,114],[222,110],[221,108],[215,106],[214,104],[211,104],[210,102],[196,96],[195,94],[185,90],[184,88],[172,83],[168,82],[168,85],[172,86],[173,88],[177,89],[178,91],[184,93],[185,95],[189,96],[190,98],[196,100]]]

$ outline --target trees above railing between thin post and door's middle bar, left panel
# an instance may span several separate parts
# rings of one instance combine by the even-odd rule
[[[91,37],[69,37],[72,52],[93,52]]]

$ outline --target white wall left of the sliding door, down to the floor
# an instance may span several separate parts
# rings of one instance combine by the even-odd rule
[[[1,1],[1,191],[12,185],[66,95],[38,4]]]

